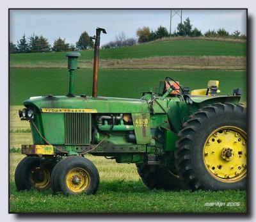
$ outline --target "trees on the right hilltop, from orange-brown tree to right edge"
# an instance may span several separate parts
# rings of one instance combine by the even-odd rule
[[[232,34],[228,33],[224,28],[220,28],[215,30],[209,30],[202,34],[202,32],[198,28],[192,28],[193,25],[189,18],[184,20],[183,23],[179,23],[177,29],[175,29],[174,33],[170,35],[167,29],[163,26],[159,26],[156,31],[151,30],[149,27],[144,26],[143,28],[138,28],[136,31],[136,35],[138,36],[138,42],[150,42],[157,40],[158,38],[170,37],[170,36],[186,36],[186,37],[198,37],[198,36],[206,36],[206,37],[232,37],[232,38],[246,38],[245,35],[241,35],[240,31],[234,31]]]

